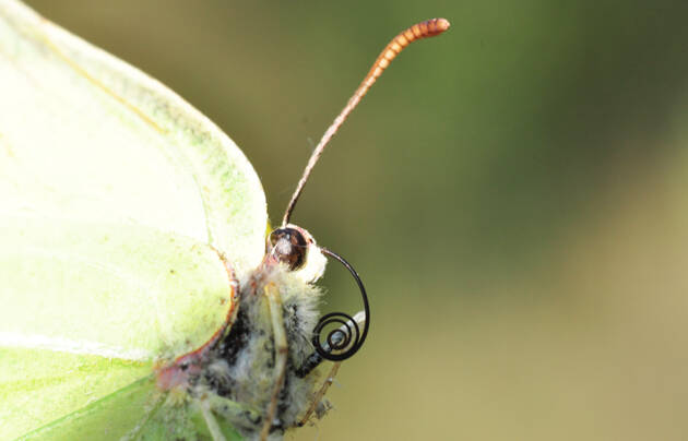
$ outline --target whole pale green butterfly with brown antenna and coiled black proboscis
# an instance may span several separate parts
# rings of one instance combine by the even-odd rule
[[[352,265],[289,217],[389,62],[448,27],[392,39],[266,235],[260,180],[213,122],[0,1],[0,439],[281,439],[322,415],[370,310]],[[354,276],[361,312],[321,315],[328,259]]]

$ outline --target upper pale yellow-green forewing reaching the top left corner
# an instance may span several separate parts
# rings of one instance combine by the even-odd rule
[[[260,181],[178,95],[15,1],[0,2],[0,210],[149,225],[262,258]]]

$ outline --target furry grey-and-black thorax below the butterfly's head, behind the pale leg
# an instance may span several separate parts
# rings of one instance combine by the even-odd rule
[[[311,400],[313,376],[297,372],[313,353],[310,343],[319,318],[321,291],[283,264],[259,267],[239,288],[239,309],[224,337],[210,354],[201,382],[221,396],[263,409],[275,384],[275,338],[264,288],[278,287],[282,319],[288,342],[284,386],[277,419],[283,427],[295,424]]]

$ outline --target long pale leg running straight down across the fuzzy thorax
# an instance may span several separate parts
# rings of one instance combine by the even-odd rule
[[[282,317],[282,299],[280,297],[280,290],[274,284],[265,286],[265,298],[270,308],[270,318],[272,320],[272,332],[275,342],[275,384],[272,390],[272,396],[270,404],[268,405],[268,412],[263,422],[263,429],[260,433],[262,441],[268,439],[270,434],[270,428],[272,427],[275,413],[277,410],[277,400],[280,392],[284,385],[284,376],[286,372],[286,362],[288,346],[286,339],[286,331],[284,329],[284,319]]]

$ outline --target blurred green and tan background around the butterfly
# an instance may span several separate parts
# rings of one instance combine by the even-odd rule
[[[296,440],[688,437],[688,2],[28,1],[222,127],[278,219],[379,50],[432,16],[294,222],[369,339]],[[360,308],[331,265],[327,309]]]

